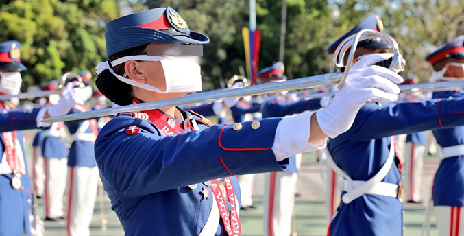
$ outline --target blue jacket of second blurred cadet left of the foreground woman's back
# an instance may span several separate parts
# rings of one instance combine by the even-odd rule
[[[66,140],[62,137],[55,137],[45,135],[47,132],[59,132],[58,123],[54,123],[49,127],[43,128],[42,131],[42,156],[45,158],[66,158],[68,156],[68,150],[66,148]]]

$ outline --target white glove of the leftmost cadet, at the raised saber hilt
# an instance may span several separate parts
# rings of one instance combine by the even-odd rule
[[[70,82],[66,84],[64,91],[60,97],[58,104],[50,106],[48,108],[48,113],[51,117],[56,117],[58,115],[66,115],[69,113],[69,110],[73,107],[74,104],[84,104],[87,97],[80,93],[78,90],[79,82]]]

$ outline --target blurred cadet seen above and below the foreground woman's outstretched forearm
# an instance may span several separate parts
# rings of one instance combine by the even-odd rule
[[[286,80],[284,64],[277,62],[261,71],[258,78],[262,84]],[[261,106],[263,118],[284,117],[302,113],[306,110],[321,108],[320,99],[292,101],[286,94],[264,95]],[[301,163],[301,154],[289,157],[289,167],[284,172],[265,174],[265,235],[290,235],[293,207],[297,184],[297,169]]]

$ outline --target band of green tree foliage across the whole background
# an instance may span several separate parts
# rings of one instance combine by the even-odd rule
[[[332,71],[326,49],[369,14],[379,14],[384,31],[398,40],[408,61],[406,76],[426,80],[432,71],[426,54],[464,34],[464,0],[286,2],[284,64],[289,78]],[[221,79],[245,68],[241,29],[249,24],[247,0],[0,0],[0,40],[22,43],[22,60],[29,69],[23,73],[25,85],[56,79],[66,71],[93,69],[104,60],[103,25],[117,17],[117,3],[134,11],[170,5],[191,29],[208,35],[204,84],[219,87]],[[282,0],[256,0],[256,27],[262,31],[260,69],[278,60],[281,8]]]

